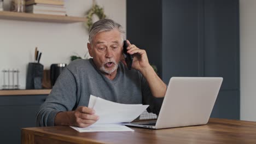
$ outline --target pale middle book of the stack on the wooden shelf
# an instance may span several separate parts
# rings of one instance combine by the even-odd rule
[[[38,4],[28,5],[26,7],[26,11],[33,11],[33,10],[54,11],[54,12],[66,13],[65,7],[50,7],[49,5],[44,6],[44,5],[38,5]]]

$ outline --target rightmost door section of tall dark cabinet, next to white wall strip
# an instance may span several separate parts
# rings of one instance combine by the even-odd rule
[[[211,117],[240,119],[238,0],[205,0],[203,76],[222,76]]]

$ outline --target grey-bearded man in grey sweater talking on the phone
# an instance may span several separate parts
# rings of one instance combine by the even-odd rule
[[[148,62],[145,50],[127,40],[132,69],[123,56],[124,31],[113,20],[92,26],[87,44],[91,59],[70,63],[37,113],[38,126],[88,127],[100,117],[88,106],[90,94],[122,104],[148,104],[158,115],[166,85]],[[106,107],[107,109],[107,107]]]

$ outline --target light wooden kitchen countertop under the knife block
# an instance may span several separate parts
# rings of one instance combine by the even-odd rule
[[[17,89],[17,90],[0,90],[0,96],[5,95],[48,95],[51,89]]]

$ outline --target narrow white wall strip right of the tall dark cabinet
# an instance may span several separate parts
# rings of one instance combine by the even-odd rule
[[[256,121],[256,1],[240,0],[241,120]]]

